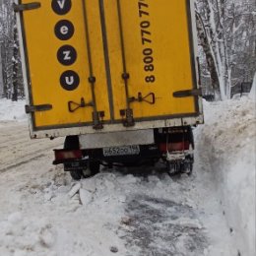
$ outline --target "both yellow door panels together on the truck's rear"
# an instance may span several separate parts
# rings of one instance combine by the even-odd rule
[[[87,6],[89,38],[86,33],[83,1]],[[53,108],[34,113],[35,128],[76,126],[81,123],[92,125],[94,110],[92,106],[79,108],[74,112],[68,109],[69,101],[80,103],[82,97],[86,103],[93,100],[89,83],[91,75],[96,77],[97,111],[104,111],[105,121],[120,120],[120,110],[126,109],[127,105],[122,79],[124,70],[118,0],[37,2],[40,2],[40,8],[23,13],[32,81],[30,91],[33,105],[52,104]],[[125,64],[130,75],[129,96],[137,97],[138,93],[142,96],[154,93],[156,96],[155,104],[145,101],[131,103],[135,118],[159,119],[163,116],[196,112],[194,97],[172,96],[176,91],[190,90],[195,86],[191,68],[188,2],[188,0],[119,0]],[[31,3],[31,0],[24,0],[22,3]],[[52,3],[55,3],[55,7],[52,7]],[[71,8],[68,6],[69,3]],[[99,3],[103,5],[104,19],[100,17]],[[62,4],[67,5],[64,7],[68,10],[64,14],[59,14]],[[67,20],[74,26],[74,34],[65,40],[58,38],[54,32],[56,25],[62,20]],[[104,29],[106,29],[105,42],[102,37]],[[63,33],[65,35],[65,28]],[[90,72],[88,40],[91,44],[93,74]],[[64,45],[71,45],[77,52],[76,61],[70,65],[61,64],[57,58],[57,52]],[[67,57],[65,52],[62,52],[62,57]],[[109,59],[105,58],[107,55]],[[108,62],[109,76],[106,70]],[[65,90],[61,86],[60,77],[68,70],[76,72],[80,79],[78,87],[73,90]],[[67,78],[66,82],[70,82],[71,77]]]

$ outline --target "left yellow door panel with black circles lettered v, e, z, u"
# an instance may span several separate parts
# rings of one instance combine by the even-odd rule
[[[31,0],[23,1],[25,4],[30,2]],[[71,9],[65,15],[58,15],[53,11],[52,1],[39,2],[41,3],[39,9],[24,12],[32,80],[32,103],[34,105],[50,103],[53,108],[49,111],[35,112],[35,127],[92,122],[93,107],[80,108],[72,113],[68,110],[68,101],[79,103],[82,97],[86,103],[92,101],[91,84],[88,82],[90,72],[83,2],[72,1]],[[103,110],[107,120],[109,103],[97,2],[90,0],[88,21],[90,41],[96,46],[92,48],[92,62],[93,75],[96,77],[97,110]],[[70,21],[75,28],[74,35],[70,39],[61,40],[55,35],[54,28],[61,20]],[[57,60],[59,48],[66,44],[72,45],[77,51],[77,60],[70,66],[62,65]],[[64,90],[60,85],[60,77],[67,70],[75,71],[80,78],[80,84],[74,91]]]

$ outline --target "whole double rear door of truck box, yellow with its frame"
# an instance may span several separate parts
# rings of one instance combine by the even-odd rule
[[[147,129],[199,116],[191,3],[19,1],[32,134]]]

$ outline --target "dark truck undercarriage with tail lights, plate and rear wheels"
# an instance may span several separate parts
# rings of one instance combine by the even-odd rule
[[[53,163],[63,163],[64,170],[76,180],[95,175],[100,165],[155,165],[160,160],[169,174],[191,174],[194,140],[190,126],[154,129],[154,141],[148,145],[81,149],[79,136],[67,136],[64,149],[54,150]]]

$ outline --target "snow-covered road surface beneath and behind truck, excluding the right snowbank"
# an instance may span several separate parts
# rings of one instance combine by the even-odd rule
[[[73,182],[51,165],[63,139],[31,141],[23,122],[0,132],[0,255],[235,255],[200,158],[191,177],[158,166]]]

